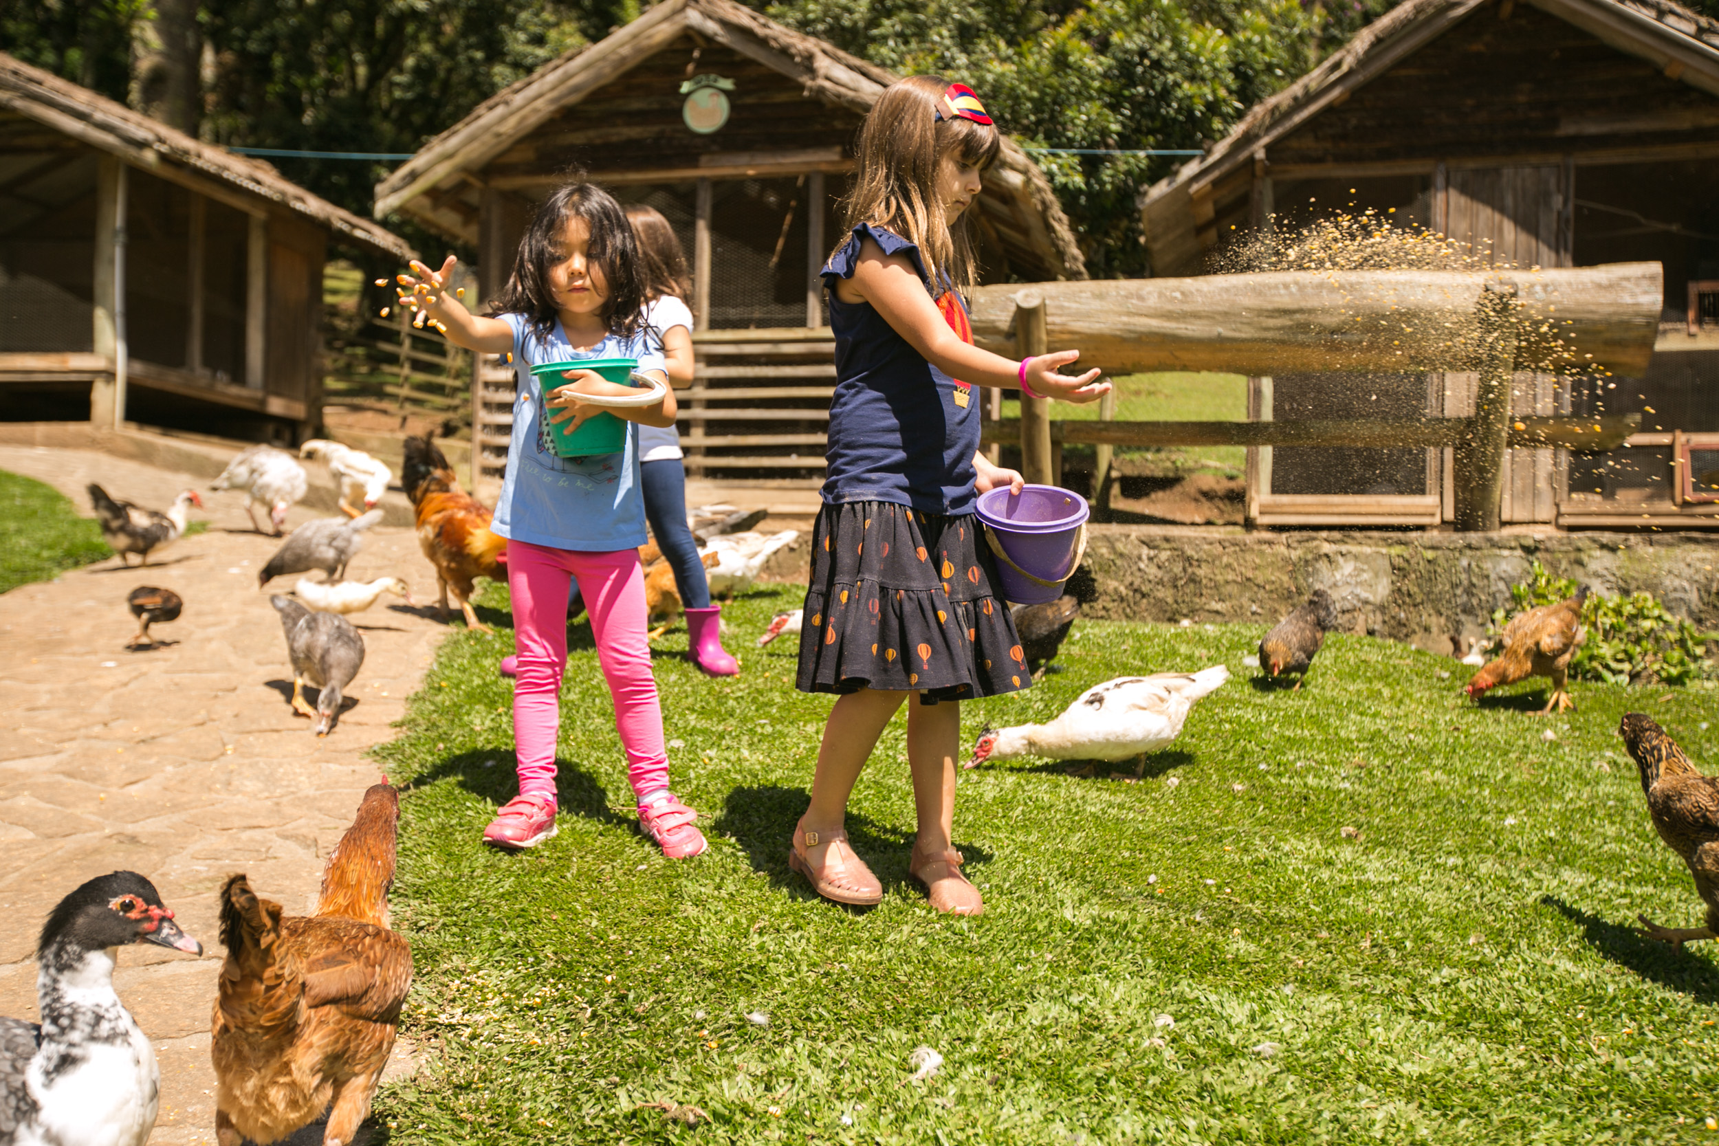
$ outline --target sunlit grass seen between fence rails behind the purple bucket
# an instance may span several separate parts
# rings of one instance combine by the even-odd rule
[[[1116,385],[1116,421],[1246,421],[1248,380],[1241,375],[1123,375],[1110,380]],[[1019,418],[1021,404],[1006,399],[1004,418]],[[1055,402],[1050,416],[1066,421],[1097,421],[1098,404],[1074,405]],[[1073,452],[1090,452],[1092,447],[1067,447]],[[1119,455],[1138,455],[1165,472],[1195,472],[1217,469],[1239,474],[1246,462],[1246,448],[1239,445],[1202,447],[1119,447]]]

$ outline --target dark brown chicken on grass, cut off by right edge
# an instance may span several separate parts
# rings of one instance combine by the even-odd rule
[[[1683,856],[1695,892],[1707,904],[1705,928],[1662,928],[1636,916],[1645,935],[1674,947],[1719,938],[1719,780],[1704,777],[1683,749],[1643,713],[1624,713],[1618,735],[1635,758],[1647,794],[1647,814],[1666,847]]]

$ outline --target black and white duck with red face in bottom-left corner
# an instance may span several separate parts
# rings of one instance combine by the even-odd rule
[[[155,1048],[113,993],[127,943],[203,954],[136,871],[60,900],[36,947],[41,1022],[0,1019],[0,1146],[143,1146],[155,1129]]]

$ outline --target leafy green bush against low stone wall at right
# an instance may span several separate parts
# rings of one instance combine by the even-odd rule
[[[1575,579],[1554,577],[1535,560],[1528,581],[1509,588],[1516,608],[1492,612],[1490,632],[1502,632],[1508,615],[1569,600],[1576,589]],[[1719,641],[1719,634],[1674,617],[1652,593],[1604,596],[1590,591],[1581,624],[1587,639],[1569,658],[1569,675],[1580,680],[1690,684],[1719,675],[1719,667],[1707,660],[1707,643]]]

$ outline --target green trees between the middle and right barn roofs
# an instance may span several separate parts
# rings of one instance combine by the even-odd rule
[[[1382,10],[1382,9],[1380,9]],[[1026,146],[1190,149],[1324,52],[1296,0],[784,0],[772,19],[899,72],[970,82]],[[1136,198],[1186,160],[1040,155],[1093,277],[1147,271]]]

